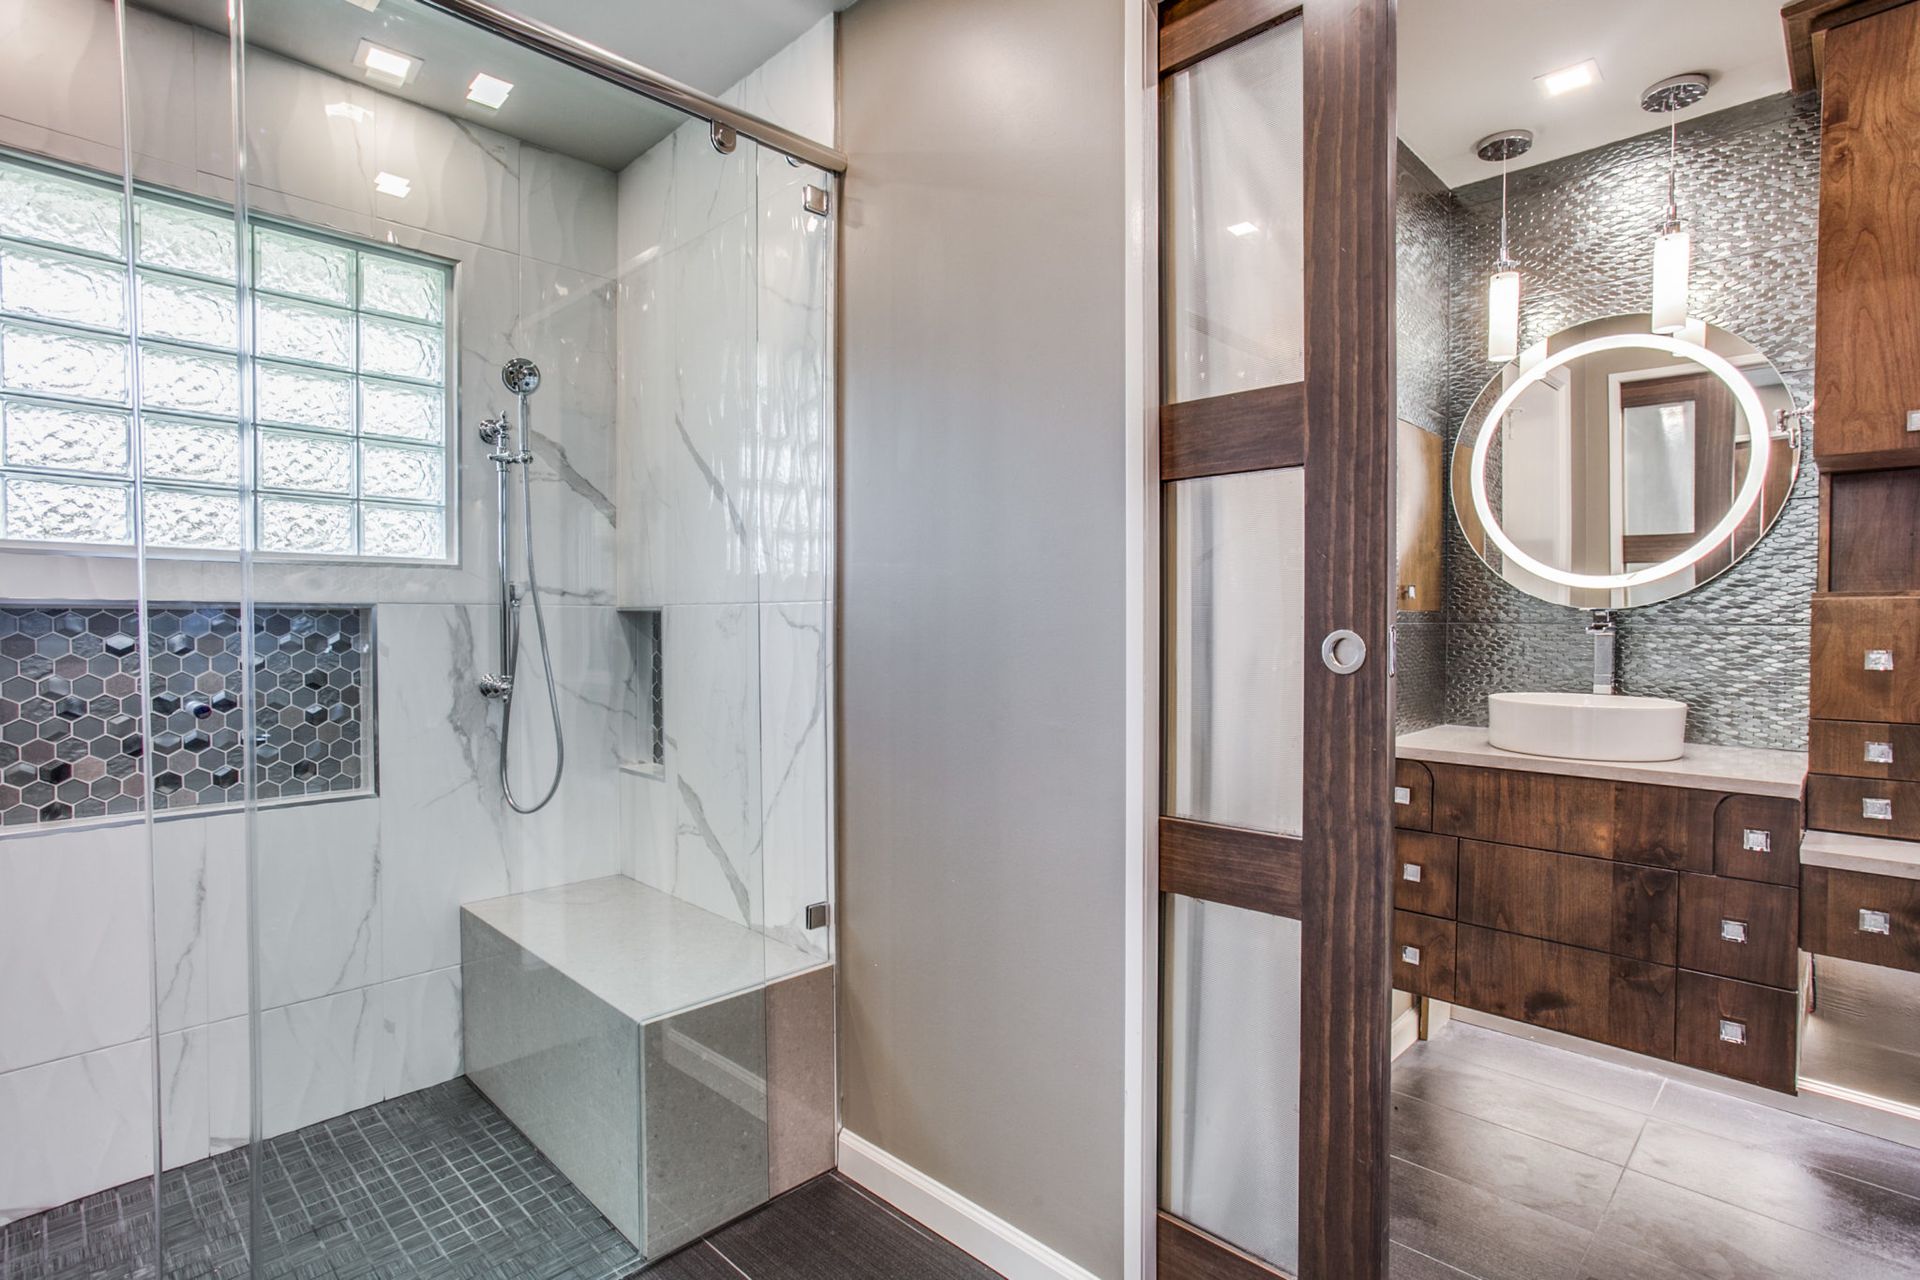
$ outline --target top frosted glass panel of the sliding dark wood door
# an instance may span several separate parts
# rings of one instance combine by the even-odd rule
[[[1300,19],[1167,81],[1167,399],[1306,378]]]

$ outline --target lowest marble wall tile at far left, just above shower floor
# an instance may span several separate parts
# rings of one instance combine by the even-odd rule
[[[0,1073],[0,1222],[154,1171],[146,1040]]]

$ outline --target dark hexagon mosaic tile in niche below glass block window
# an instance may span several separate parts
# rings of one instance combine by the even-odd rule
[[[365,608],[253,610],[261,800],[371,787],[371,631]],[[244,798],[240,608],[150,610],[144,729],[138,637],[127,604],[0,606],[0,825],[136,814],[146,770],[157,808]]]

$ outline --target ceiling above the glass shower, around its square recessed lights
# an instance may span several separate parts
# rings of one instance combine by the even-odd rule
[[[720,94],[852,0],[520,0],[507,4],[676,81]],[[227,0],[132,0],[227,31]],[[413,0],[248,0],[248,42],[355,84],[620,171],[685,117]],[[369,81],[361,40],[420,59],[401,88]],[[474,73],[513,84],[501,109],[467,100]],[[778,121],[776,121],[778,123]],[[831,142],[831,138],[826,138]]]

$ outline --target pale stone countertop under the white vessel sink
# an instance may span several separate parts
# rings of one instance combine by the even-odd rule
[[[1797,800],[1807,777],[1807,752],[1764,750],[1759,747],[1711,747],[1688,743],[1678,760],[1563,760],[1503,750],[1486,741],[1486,727],[1434,725],[1404,733],[1396,752],[1405,760],[1467,764],[1521,773],[1559,773],[1563,777],[1607,777],[1622,783],[1659,787],[1697,787],[1751,796]]]

